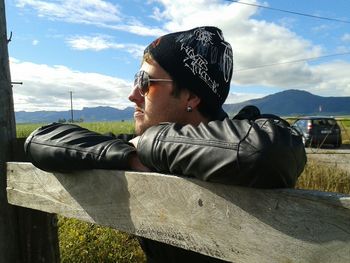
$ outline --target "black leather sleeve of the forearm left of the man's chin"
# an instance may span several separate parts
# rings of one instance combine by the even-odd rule
[[[27,158],[48,171],[127,169],[136,149],[123,139],[102,135],[73,124],[43,126],[24,144]]]

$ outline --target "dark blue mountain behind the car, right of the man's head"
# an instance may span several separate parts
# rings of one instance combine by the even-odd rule
[[[286,90],[236,104],[226,104],[230,115],[246,105],[257,106],[262,113],[280,116],[350,115],[350,97],[321,97],[301,90]]]

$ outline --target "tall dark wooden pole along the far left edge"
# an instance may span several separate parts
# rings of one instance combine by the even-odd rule
[[[6,161],[16,138],[9,71],[5,4],[0,1],[0,262],[20,262],[17,214],[6,198]]]

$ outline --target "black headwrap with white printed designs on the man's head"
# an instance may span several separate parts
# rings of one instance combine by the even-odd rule
[[[144,51],[181,87],[193,91],[218,117],[230,90],[231,45],[216,27],[197,27],[153,41]]]

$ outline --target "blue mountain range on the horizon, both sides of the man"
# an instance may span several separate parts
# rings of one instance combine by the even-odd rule
[[[248,100],[236,104],[224,104],[224,110],[234,115],[246,105],[257,106],[262,113],[279,116],[300,115],[350,115],[350,97],[321,97],[301,90],[286,90],[266,97]],[[94,107],[74,110],[75,121],[122,121],[133,118],[133,107],[116,109],[112,107]],[[17,123],[48,123],[68,121],[71,111],[35,111],[15,112]]]

